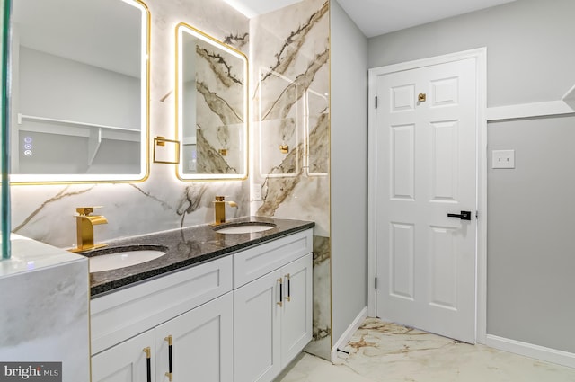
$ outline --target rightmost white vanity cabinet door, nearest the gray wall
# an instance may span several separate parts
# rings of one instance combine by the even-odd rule
[[[284,304],[281,317],[281,367],[312,339],[312,254],[281,268]]]

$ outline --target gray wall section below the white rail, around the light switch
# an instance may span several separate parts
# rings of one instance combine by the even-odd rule
[[[515,150],[516,168],[488,170],[487,332],[575,352],[575,117],[488,134],[490,151]]]

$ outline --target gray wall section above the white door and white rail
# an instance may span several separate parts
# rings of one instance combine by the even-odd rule
[[[573,0],[517,0],[371,38],[367,62],[382,67],[487,47],[488,107],[560,100],[575,84],[574,14]]]

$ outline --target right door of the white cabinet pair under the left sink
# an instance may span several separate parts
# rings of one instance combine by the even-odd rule
[[[234,380],[233,293],[156,326],[156,382],[169,381],[172,336],[174,381]]]

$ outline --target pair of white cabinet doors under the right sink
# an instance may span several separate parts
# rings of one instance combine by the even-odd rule
[[[268,382],[312,339],[312,254],[234,290],[234,382]]]

